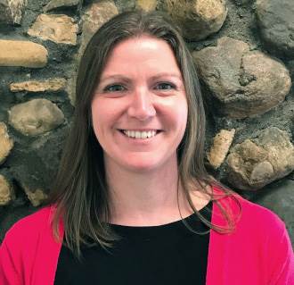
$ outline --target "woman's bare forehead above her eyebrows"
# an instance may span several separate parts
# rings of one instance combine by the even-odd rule
[[[181,75],[175,54],[167,42],[145,35],[128,38],[114,46],[102,71],[102,77],[114,71],[173,71]]]

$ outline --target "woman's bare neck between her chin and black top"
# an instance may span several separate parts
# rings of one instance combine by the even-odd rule
[[[110,189],[111,223],[124,225],[158,225],[192,214],[178,183],[176,157],[167,166],[134,172],[105,161]],[[179,185],[178,185],[179,184]]]

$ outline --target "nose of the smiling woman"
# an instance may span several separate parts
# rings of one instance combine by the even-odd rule
[[[140,121],[148,120],[156,114],[151,94],[147,88],[138,88],[134,91],[127,114]]]

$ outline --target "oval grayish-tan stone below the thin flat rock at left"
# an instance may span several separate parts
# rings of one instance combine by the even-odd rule
[[[12,127],[26,136],[43,134],[64,121],[61,110],[47,99],[33,99],[14,105],[8,113]]]

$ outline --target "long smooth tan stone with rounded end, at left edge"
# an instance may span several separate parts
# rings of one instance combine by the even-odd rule
[[[0,66],[41,68],[47,64],[44,46],[30,41],[0,39]]]

